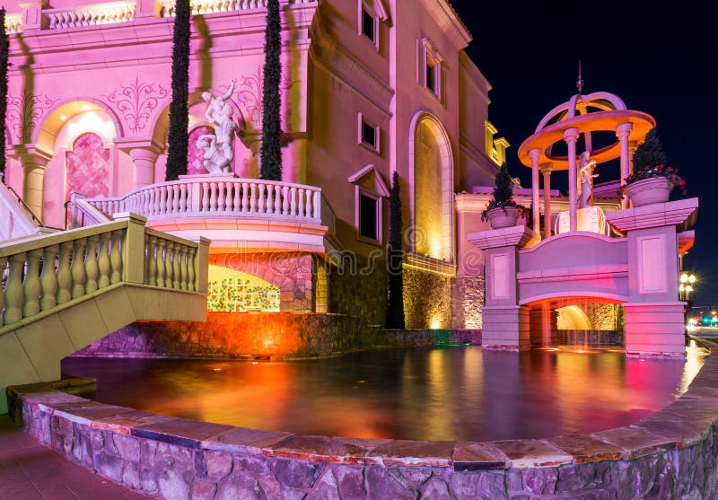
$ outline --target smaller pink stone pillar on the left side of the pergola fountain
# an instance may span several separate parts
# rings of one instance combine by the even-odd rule
[[[530,348],[529,308],[519,304],[516,274],[519,250],[539,241],[538,234],[525,225],[469,234],[485,250],[486,305],[482,308],[481,346],[524,350]]]

